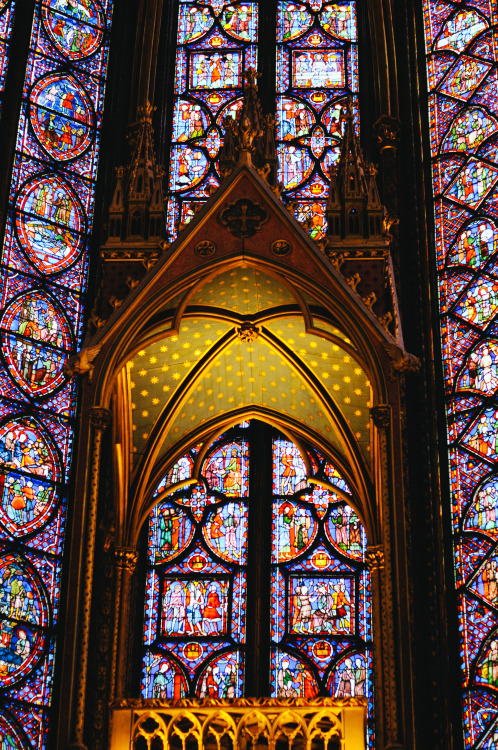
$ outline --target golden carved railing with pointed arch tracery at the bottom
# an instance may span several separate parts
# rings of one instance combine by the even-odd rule
[[[111,750],[365,750],[361,698],[123,700]]]

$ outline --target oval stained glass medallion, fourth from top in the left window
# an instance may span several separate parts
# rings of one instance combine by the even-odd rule
[[[69,323],[42,292],[17,297],[0,321],[2,353],[9,374],[30,396],[45,396],[64,382],[71,350]]]

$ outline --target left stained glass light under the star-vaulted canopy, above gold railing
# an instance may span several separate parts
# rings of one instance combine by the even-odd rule
[[[173,490],[161,502],[164,489],[192,469],[192,455],[182,456],[154,493],[159,502],[149,520],[144,697],[242,695],[248,444],[222,437],[206,454],[201,483]]]

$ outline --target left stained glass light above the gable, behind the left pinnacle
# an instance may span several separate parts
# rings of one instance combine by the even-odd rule
[[[257,64],[258,6],[182,0],[178,20],[168,232],[187,224],[220,178],[225,117],[242,105],[244,71]]]

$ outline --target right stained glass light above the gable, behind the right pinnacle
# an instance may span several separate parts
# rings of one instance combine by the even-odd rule
[[[313,239],[325,236],[331,170],[340,155],[345,106],[357,119],[354,2],[278,2],[277,143],[282,197]]]

